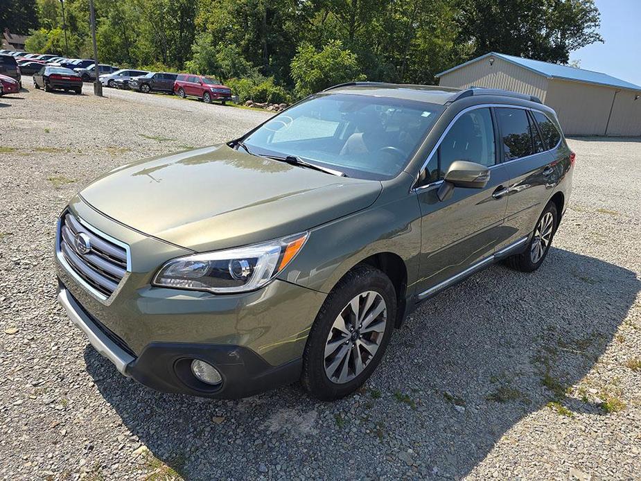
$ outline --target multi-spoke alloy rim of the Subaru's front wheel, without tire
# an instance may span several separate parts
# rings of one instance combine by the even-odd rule
[[[324,365],[333,383],[349,383],[367,367],[383,342],[387,305],[383,296],[368,290],[347,304],[329,331]]]

